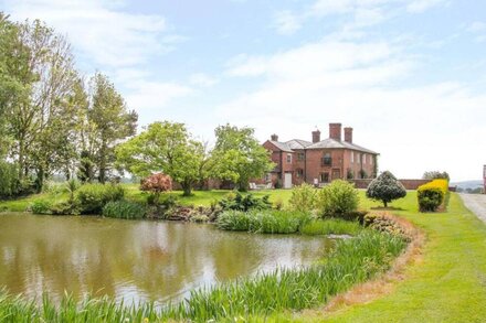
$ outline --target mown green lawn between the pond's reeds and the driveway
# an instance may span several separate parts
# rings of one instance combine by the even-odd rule
[[[427,236],[422,260],[405,270],[393,291],[367,304],[336,313],[315,311],[299,322],[486,322],[486,226],[452,194],[448,211],[420,214],[415,192],[393,212]],[[363,207],[374,203],[362,200]],[[276,321],[282,321],[279,316]]]

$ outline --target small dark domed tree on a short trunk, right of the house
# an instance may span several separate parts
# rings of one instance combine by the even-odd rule
[[[368,185],[367,197],[381,201],[387,207],[393,200],[405,197],[406,190],[389,171],[384,171]]]

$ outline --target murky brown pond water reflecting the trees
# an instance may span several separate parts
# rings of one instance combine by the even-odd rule
[[[278,266],[309,265],[324,237],[221,232],[212,225],[0,214],[0,287],[54,299],[64,290],[160,304]]]

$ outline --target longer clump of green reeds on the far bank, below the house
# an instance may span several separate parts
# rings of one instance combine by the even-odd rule
[[[250,212],[225,211],[219,215],[216,226],[224,230],[250,232],[261,234],[297,233],[310,220],[308,213],[253,209]]]

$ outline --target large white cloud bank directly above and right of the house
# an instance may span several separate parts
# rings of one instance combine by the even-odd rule
[[[261,85],[219,106],[219,118],[256,127],[261,140],[274,132],[283,140],[310,139],[315,126],[326,134],[328,122],[341,121],[355,127],[358,144],[381,152],[381,170],[418,177],[441,169],[454,180],[474,179],[486,160],[474,140],[486,136],[477,122],[486,119],[486,96],[461,83],[392,86],[421,73],[421,62],[403,47],[326,40],[274,55],[240,55],[229,74],[257,74]]]

